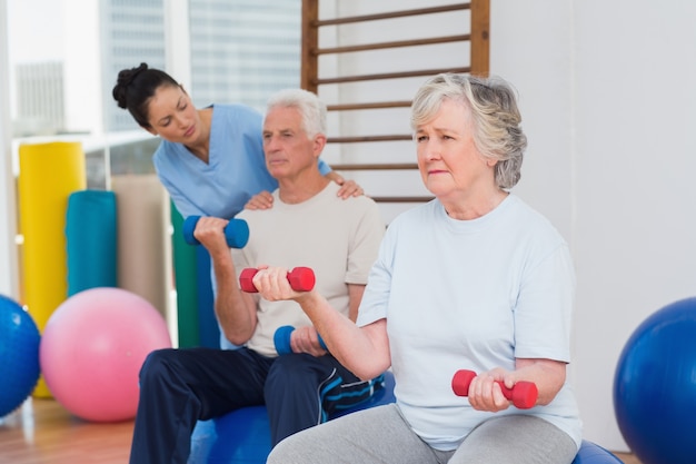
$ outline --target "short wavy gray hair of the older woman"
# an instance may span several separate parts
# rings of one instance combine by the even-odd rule
[[[458,101],[469,108],[474,122],[474,142],[486,159],[498,161],[496,184],[513,188],[520,177],[527,136],[521,130],[521,116],[515,92],[500,78],[441,73],[418,89],[411,105],[411,128],[435,118],[443,100]]]

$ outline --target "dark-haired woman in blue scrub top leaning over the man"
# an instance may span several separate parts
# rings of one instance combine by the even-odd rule
[[[147,63],[121,70],[112,96],[140,127],[161,138],[152,162],[181,216],[231,219],[251,198],[251,209],[272,205],[269,192],[278,184],[266,168],[258,111],[243,105],[197,109],[177,80]],[[321,160],[319,170],[342,186],[341,198],[362,195],[360,186]],[[215,295],[213,279],[211,287]],[[220,345],[235,347],[223,336]]]

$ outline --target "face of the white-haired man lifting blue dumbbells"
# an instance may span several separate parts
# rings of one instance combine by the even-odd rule
[[[294,177],[317,164],[318,144],[307,137],[296,108],[277,107],[264,121],[266,167],[276,179]]]

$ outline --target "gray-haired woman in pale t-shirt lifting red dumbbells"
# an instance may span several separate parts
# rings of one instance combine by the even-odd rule
[[[527,146],[520,121],[501,79],[445,73],[418,90],[414,140],[436,198],[390,224],[357,324],[318,293],[292,290],[287,269],[257,274],[261,296],[298,302],[356,375],[391,367],[396,379],[395,404],[295,434],[268,463],[573,461],[581,442],[566,381],[575,276],[559,233],[508,191]],[[478,374],[468,397],[453,392],[459,369]],[[529,405],[507,397],[520,382],[536,385]]]

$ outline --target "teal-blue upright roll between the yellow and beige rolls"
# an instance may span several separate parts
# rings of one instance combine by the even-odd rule
[[[68,197],[68,296],[117,286],[116,208],[113,191],[80,190]]]

